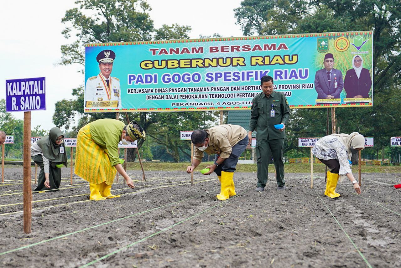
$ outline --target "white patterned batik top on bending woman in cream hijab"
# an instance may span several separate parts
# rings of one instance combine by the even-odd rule
[[[352,173],[348,162],[347,148],[337,137],[328,135],[319,139],[312,148],[312,153],[322,160],[338,159],[338,162],[340,162],[340,175]]]

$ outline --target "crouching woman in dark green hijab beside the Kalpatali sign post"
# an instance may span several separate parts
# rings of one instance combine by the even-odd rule
[[[35,141],[30,149],[33,161],[41,167],[38,187],[35,191],[59,189],[61,169],[67,167],[67,154],[64,144],[64,134],[58,127],[53,127],[49,135]]]

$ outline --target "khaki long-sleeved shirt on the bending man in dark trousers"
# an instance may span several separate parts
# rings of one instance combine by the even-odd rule
[[[239,125],[224,124],[205,129],[209,135],[209,145],[205,151],[194,149],[193,159],[202,161],[203,152],[208,155],[219,154],[221,158],[231,155],[232,147],[247,136],[247,131]]]

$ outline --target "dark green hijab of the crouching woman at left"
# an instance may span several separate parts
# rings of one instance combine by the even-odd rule
[[[59,136],[63,136],[64,138],[63,132],[58,127],[53,127],[50,129],[48,136],[36,141],[36,143],[41,147],[43,155],[49,159],[52,167],[61,163],[67,167],[67,153],[64,141],[60,145],[56,143],[56,139]],[[64,153],[60,153],[61,146],[64,147]]]

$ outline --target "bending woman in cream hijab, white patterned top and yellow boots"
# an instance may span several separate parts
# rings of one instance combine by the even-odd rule
[[[340,196],[335,191],[340,175],[342,177],[341,181],[345,176],[348,177],[356,193],[360,193],[360,186],[352,175],[350,161],[352,155],[358,154],[358,151],[363,149],[365,149],[365,137],[358,132],[352,132],[350,135],[344,133],[332,134],[316,142],[312,148],[313,155],[330,169],[330,171],[327,171],[324,195],[334,199]]]

